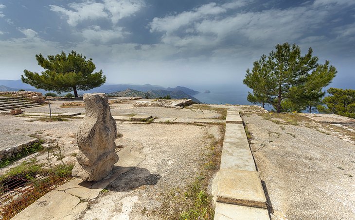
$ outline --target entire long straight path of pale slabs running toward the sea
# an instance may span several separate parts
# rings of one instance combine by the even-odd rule
[[[264,189],[237,111],[227,111],[217,175],[215,220],[269,220]]]

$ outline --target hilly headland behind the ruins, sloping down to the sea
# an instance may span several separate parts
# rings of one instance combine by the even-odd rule
[[[165,97],[169,95],[172,99],[192,99],[192,101],[196,103],[201,103],[199,100],[196,98],[184,93],[183,91],[168,91],[164,89],[159,89],[159,90],[149,90],[147,92],[142,92],[142,91],[137,91],[134,89],[126,89],[124,91],[118,91],[118,92],[111,92],[108,93],[107,95],[109,96],[117,96],[117,97],[124,97],[124,96],[141,96],[143,98],[147,97],[150,99],[157,99],[159,97]]]

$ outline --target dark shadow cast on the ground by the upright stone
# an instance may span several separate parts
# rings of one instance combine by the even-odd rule
[[[107,190],[128,192],[141,186],[156,185],[161,178],[159,174],[151,174],[148,169],[144,168],[114,166],[114,172],[117,172],[117,169],[127,171],[122,172],[121,175],[106,186]]]

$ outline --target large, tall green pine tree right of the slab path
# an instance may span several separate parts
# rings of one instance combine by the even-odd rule
[[[278,113],[307,107],[311,111],[321,102],[322,88],[331,83],[336,68],[329,61],[319,64],[311,48],[304,56],[296,44],[278,44],[275,49],[255,61],[251,71],[247,69],[243,83],[252,89],[248,101],[262,103],[263,107],[271,104]]]

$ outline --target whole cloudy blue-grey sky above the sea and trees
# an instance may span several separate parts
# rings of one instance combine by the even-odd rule
[[[0,79],[35,54],[77,51],[106,83],[241,85],[284,42],[311,47],[355,89],[355,0],[0,0]]]

